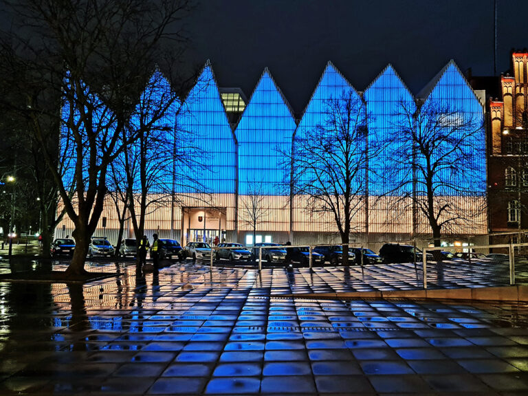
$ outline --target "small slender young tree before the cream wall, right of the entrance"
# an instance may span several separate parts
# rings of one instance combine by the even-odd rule
[[[256,229],[265,222],[270,214],[270,206],[263,193],[262,183],[258,181],[248,182],[248,194],[241,195],[240,206],[240,219],[253,231],[253,243],[255,243]]]

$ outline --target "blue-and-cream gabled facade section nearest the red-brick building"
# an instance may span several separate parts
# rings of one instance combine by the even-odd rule
[[[440,109],[423,113],[428,109]],[[421,122],[444,122],[449,125],[443,133],[449,135],[439,142],[440,148],[433,156],[451,156],[456,166],[449,162],[434,176],[437,202],[447,204],[448,216],[456,218],[443,232],[486,232],[486,158],[483,107],[454,62],[448,63],[430,90],[421,107]],[[456,150],[452,142],[456,142]],[[460,161],[458,158],[465,159]],[[425,158],[421,158],[425,161]],[[423,180],[421,180],[423,181]],[[417,193],[423,195],[418,188]],[[446,217],[441,217],[445,219]],[[428,230],[426,219],[420,219],[419,229]]]

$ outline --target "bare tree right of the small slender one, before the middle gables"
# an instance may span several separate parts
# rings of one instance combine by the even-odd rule
[[[357,231],[353,219],[364,210],[369,158],[378,151],[367,146],[365,104],[352,89],[326,100],[323,122],[294,137],[292,196],[306,199],[311,214],[333,217],[344,252]]]

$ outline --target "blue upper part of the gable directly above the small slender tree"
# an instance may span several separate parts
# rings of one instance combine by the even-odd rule
[[[289,170],[285,156],[292,149],[296,124],[281,92],[267,70],[236,127],[239,142],[239,192],[248,195],[257,183],[264,195],[282,195]]]

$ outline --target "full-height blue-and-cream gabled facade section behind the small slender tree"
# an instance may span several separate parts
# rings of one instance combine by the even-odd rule
[[[287,157],[295,129],[292,111],[265,69],[235,131],[239,144],[241,230],[251,229],[252,211],[261,213],[259,230],[289,230],[289,189],[285,186],[289,186]],[[257,210],[250,208],[252,202],[259,202]]]

